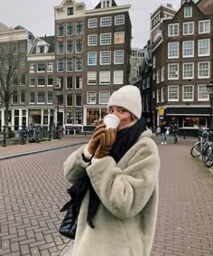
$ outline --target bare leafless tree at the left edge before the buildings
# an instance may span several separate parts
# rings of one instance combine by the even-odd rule
[[[17,43],[0,45],[0,102],[5,107],[5,133],[8,137],[9,115],[12,98],[18,96],[20,54]]]

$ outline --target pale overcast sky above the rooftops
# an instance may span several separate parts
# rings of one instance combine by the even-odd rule
[[[54,34],[54,6],[62,0],[0,0],[0,23],[9,27],[22,25],[35,36]],[[99,0],[76,0],[84,2],[86,9],[94,9]],[[150,14],[159,5],[171,4],[176,10],[181,0],[116,0],[116,5],[131,5],[132,47],[144,48],[149,40]]]

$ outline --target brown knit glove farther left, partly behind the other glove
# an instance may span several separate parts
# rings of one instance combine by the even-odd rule
[[[106,124],[104,123],[103,119],[99,121],[97,124],[97,128],[95,128],[91,139],[88,142],[88,153],[94,155],[97,147],[100,144],[100,136],[106,130]]]

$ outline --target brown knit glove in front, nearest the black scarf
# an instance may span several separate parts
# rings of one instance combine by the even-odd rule
[[[103,158],[109,156],[109,153],[116,141],[116,129],[108,128],[100,137],[100,145],[97,147],[94,157]]]

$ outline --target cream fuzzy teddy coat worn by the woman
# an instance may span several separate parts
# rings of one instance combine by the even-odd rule
[[[88,193],[80,207],[72,256],[150,255],[158,208],[158,148],[145,130],[116,164],[111,156],[82,159],[84,147],[64,163],[64,175],[73,184],[87,171],[101,203],[87,223]]]

